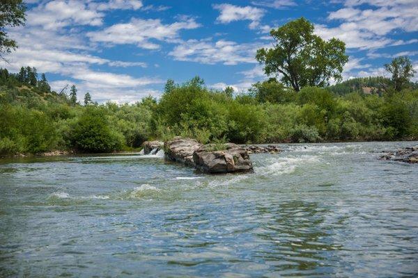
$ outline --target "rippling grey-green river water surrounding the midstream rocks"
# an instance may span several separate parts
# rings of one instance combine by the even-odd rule
[[[0,161],[0,277],[413,277],[418,142],[280,145],[254,174],[138,154]]]

